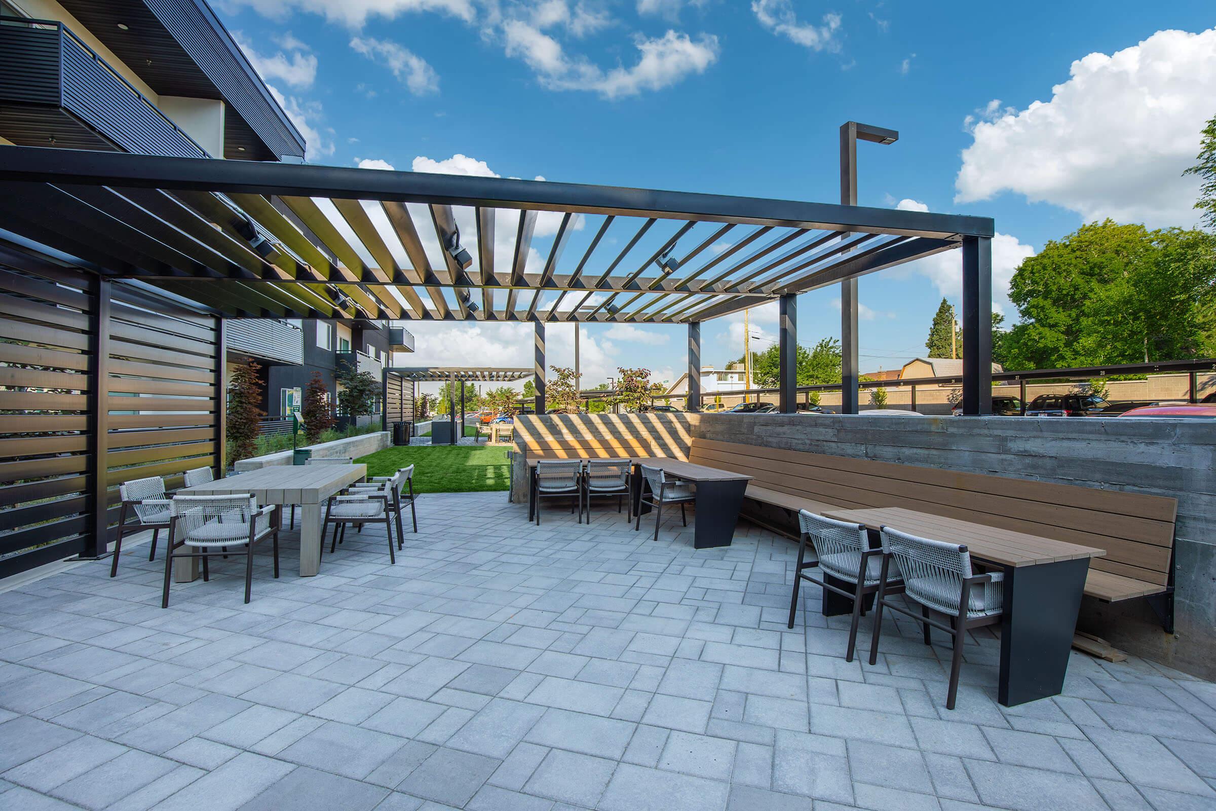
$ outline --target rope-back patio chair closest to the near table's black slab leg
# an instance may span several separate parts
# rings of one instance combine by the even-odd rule
[[[1004,575],[1000,571],[974,574],[972,556],[966,546],[908,535],[889,526],[882,528],[883,582],[874,601],[874,636],[869,642],[869,664],[878,663],[878,635],[883,626],[883,608],[906,614],[924,625],[924,643],[931,644],[933,626],[953,637],[955,652],[950,665],[950,689],[946,709],[955,709],[958,694],[958,671],[963,664],[963,641],[967,631],[1001,621],[1004,607]],[[921,604],[921,616],[891,602],[885,590],[885,578],[891,563],[903,573],[903,596]],[[930,614],[945,614],[944,625]]]

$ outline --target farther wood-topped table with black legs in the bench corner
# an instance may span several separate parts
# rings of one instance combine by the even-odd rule
[[[750,475],[693,464],[666,456],[647,456],[631,461],[634,462],[634,485],[630,500],[635,514],[637,509],[641,509],[643,516],[651,512],[651,506],[642,503],[642,490],[646,481],[642,479],[641,466],[663,468],[668,475],[697,485],[697,500],[693,507],[697,511],[693,522],[693,546],[698,550],[708,550],[731,545],[731,540],[734,537],[734,525],[739,522],[739,509],[743,507],[743,494],[748,489],[748,481],[751,480]],[[536,460],[528,460],[528,518],[531,519],[536,501],[533,497],[536,491]]]

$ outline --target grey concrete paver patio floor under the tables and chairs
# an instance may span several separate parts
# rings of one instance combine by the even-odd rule
[[[146,546],[0,593],[0,806],[1216,809],[1211,683],[1074,653],[1062,695],[1006,709],[983,631],[950,711],[945,638],[893,621],[845,663],[814,587],[788,631],[795,547],[745,522],[696,551],[615,505],[418,512],[396,565],[368,528],[310,579],[285,533],[248,606],[231,558],[162,610]]]

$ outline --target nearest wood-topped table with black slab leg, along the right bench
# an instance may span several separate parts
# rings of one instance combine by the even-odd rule
[[[872,546],[878,545],[879,528],[890,526],[966,545],[973,561],[1001,569],[1004,612],[997,700],[1014,706],[1058,695],[1064,688],[1090,558],[1103,557],[1105,550],[902,507],[827,509],[823,514],[863,524]]]

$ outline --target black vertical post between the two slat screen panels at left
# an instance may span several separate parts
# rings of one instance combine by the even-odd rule
[[[109,293],[111,282],[98,277],[92,300],[92,381],[89,396],[89,490],[92,512],[81,558],[106,554],[109,545]],[[220,367],[224,359],[219,359]]]

